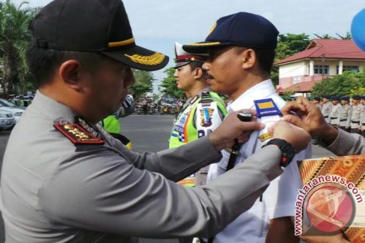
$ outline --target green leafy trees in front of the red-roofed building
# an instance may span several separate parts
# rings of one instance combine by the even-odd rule
[[[312,89],[312,96],[361,94],[365,87],[365,72],[346,71],[333,78],[325,78]]]

